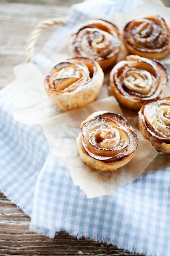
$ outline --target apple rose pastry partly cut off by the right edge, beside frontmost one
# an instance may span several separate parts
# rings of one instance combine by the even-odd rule
[[[158,152],[170,154],[170,97],[142,106],[139,129]]]

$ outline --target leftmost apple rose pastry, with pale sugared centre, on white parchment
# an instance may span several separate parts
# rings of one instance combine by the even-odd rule
[[[68,111],[93,102],[99,95],[104,74],[89,58],[71,58],[57,64],[45,78],[45,91],[57,108]]]

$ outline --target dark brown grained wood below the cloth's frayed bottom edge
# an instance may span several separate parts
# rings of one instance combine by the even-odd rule
[[[0,255],[139,255],[89,239],[57,232],[54,239],[29,230],[30,218],[0,193]]]

